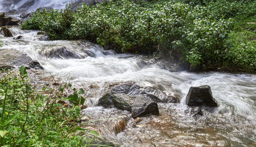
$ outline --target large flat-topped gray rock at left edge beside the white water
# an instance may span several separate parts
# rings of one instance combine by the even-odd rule
[[[40,64],[37,61],[32,60],[26,53],[22,53],[16,49],[0,50],[1,69],[10,69],[11,67],[19,68],[22,65],[26,65],[28,69],[42,69]]]

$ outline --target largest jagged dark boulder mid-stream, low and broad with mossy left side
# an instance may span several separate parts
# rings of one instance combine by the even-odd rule
[[[132,113],[133,118],[148,114],[159,115],[157,102],[177,102],[175,98],[166,96],[160,91],[143,88],[134,82],[123,82],[114,86],[103,96],[98,105],[105,108],[116,107]]]

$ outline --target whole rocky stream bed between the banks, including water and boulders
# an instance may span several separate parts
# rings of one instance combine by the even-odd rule
[[[85,40],[49,41],[35,30],[8,29],[12,37],[0,38],[0,67],[26,65],[37,85],[70,81],[85,89],[81,121],[106,119],[84,126],[98,131],[96,143],[256,146],[256,75],[190,73],[177,63],[117,54]]]

